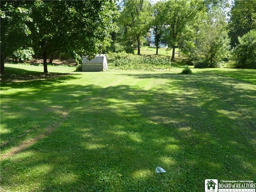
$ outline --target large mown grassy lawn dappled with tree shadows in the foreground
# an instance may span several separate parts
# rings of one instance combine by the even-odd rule
[[[256,70],[6,64],[2,192],[203,192],[256,182]],[[167,172],[156,174],[157,166]]]

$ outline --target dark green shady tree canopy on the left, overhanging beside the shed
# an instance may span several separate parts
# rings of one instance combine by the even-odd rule
[[[24,44],[23,36],[28,37],[32,40],[35,54],[44,59],[44,72],[47,73],[46,59],[50,54],[64,52],[92,58],[101,52],[104,38],[116,29],[113,22],[117,16],[114,0],[36,0],[29,7],[30,11],[22,8],[24,3],[26,1],[16,9],[8,1],[6,8],[3,6],[2,9],[1,6],[1,17],[4,19],[1,19],[1,61],[2,46],[10,47],[14,43],[18,48]],[[27,21],[31,23],[25,24]],[[22,38],[12,38],[17,30]],[[3,54],[5,57],[10,56],[14,50],[16,48]]]

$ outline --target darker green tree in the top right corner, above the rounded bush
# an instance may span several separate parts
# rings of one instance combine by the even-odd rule
[[[231,46],[235,47],[238,36],[242,37],[256,28],[256,0],[235,0],[230,11],[229,36]]]

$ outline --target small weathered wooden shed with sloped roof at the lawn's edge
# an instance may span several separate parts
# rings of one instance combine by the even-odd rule
[[[82,71],[106,71],[108,60],[106,54],[97,54],[94,59],[82,58]]]

